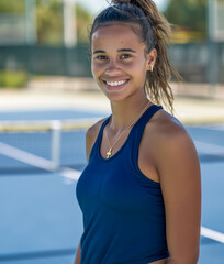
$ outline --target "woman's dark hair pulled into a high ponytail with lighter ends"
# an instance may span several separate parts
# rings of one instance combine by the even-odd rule
[[[157,50],[157,59],[154,72],[148,72],[145,81],[145,92],[152,101],[161,101],[173,111],[173,94],[169,86],[171,74],[180,79],[179,74],[170,65],[166,47],[169,46],[170,26],[152,0],[113,0],[94,19],[90,31],[92,34],[100,26],[112,23],[127,23],[146,45],[146,53]],[[137,26],[139,25],[141,30]]]

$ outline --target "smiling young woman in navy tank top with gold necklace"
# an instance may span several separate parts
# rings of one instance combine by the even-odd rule
[[[113,1],[93,22],[92,74],[112,114],[87,131],[75,264],[198,261],[199,160],[183,125],[160,106],[172,112],[169,32],[150,0]]]

